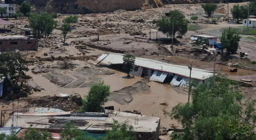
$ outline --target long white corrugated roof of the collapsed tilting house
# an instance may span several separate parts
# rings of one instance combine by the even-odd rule
[[[108,56],[106,56],[108,54]],[[106,53],[102,54],[105,57],[103,58],[100,56],[97,61],[100,62],[100,64],[122,64],[123,63],[123,57],[122,54],[115,54],[115,53]],[[168,64],[156,60],[146,59],[146,58],[139,58],[136,57],[135,64],[136,66],[141,66],[145,68],[150,68],[154,70],[159,70],[163,72],[169,72],[173,74],[178,74],[180,76],[189,77],[190,75],[190,69],[188,66],[181,66],[181,65],[174,65],[174,64]],[[207,78],[210,78],[213,76],[213,72],[208,70],[202,70],[198,68],[192,68],[191,72],[191,78],[198,79],[198,80],[204,80]]]

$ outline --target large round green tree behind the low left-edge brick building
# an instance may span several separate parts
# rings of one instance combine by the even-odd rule
[[[57,26],[52,15],[46,12],[31,14],[29,17],[30,27],[34,30],[38,38],[48,37]]]

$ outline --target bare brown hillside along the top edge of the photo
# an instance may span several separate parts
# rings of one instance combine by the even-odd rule
[[[162,7],[164,4],[220,3],[226,0],[31,0],[36,11],[62,14],[112,12]],[[232,0],[240,2],[240,0]]]

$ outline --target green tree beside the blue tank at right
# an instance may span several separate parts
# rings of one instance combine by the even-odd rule
[[[238,32],[230,27],[222,32],[220,42],[223,44],[222,48],[227,49],[227,55],[229,52],[234,54],[237,51],[240,38]]]

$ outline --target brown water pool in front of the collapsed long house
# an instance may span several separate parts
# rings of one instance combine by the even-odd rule
[[[115,110],[120,108],[121,111],[132,110],[140,108],[143,115],[160,117],[161,125],[169,127],[169,124],[178,124],[177,121],[171,120],[169,117],[163,115],[163,111],[171,111],[172,107],[178,103],[186,102],[188,99],[187,95],[177,93],[168,84],[161,84],[157,82],[149,82],[151,92],[150,93],[138,93],[132,95],[133,100],[127,105],[120,105],[114,101],[108,101],[105,106],[114,105]],[[168,106],[160,105],[160,103],[167,102]]]

